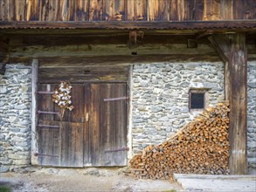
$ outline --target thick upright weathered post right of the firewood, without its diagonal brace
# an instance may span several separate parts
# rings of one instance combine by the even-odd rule
[[[230,169],[233,175],[247,173],[247,48],[246,35],[232,35],[230,71]]]

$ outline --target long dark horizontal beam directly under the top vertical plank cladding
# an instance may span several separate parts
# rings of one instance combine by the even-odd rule
[[[47,21],[0,21],[0,29],[173,29],[173,30],[199,30],[211,29],[213,31],[226,29],[228,31],[251,31],[256,28],[252,20],[228,20],[228,21],[160,21],[160,22],[116,22],[116,21],[73,21],[73,22],[47,22]]]

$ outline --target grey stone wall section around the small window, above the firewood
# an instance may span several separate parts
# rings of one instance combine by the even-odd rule
[[[224,99],[224,65],[156,63],[134,65],[132,137],[134,153],[159,144],[194,118],[189,111],[190,88],[210,88],[210,106]]]

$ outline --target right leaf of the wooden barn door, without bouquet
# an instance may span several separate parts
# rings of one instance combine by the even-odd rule
[[[85,165],[127,165],[126,84],[86,85]]]

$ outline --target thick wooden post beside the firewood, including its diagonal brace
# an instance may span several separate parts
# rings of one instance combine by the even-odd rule
[[[230,161],[232,175],[247,172],[247,47],[246,34],[212,35],[209,40],[225,63],[225,97],[230,101]]]

